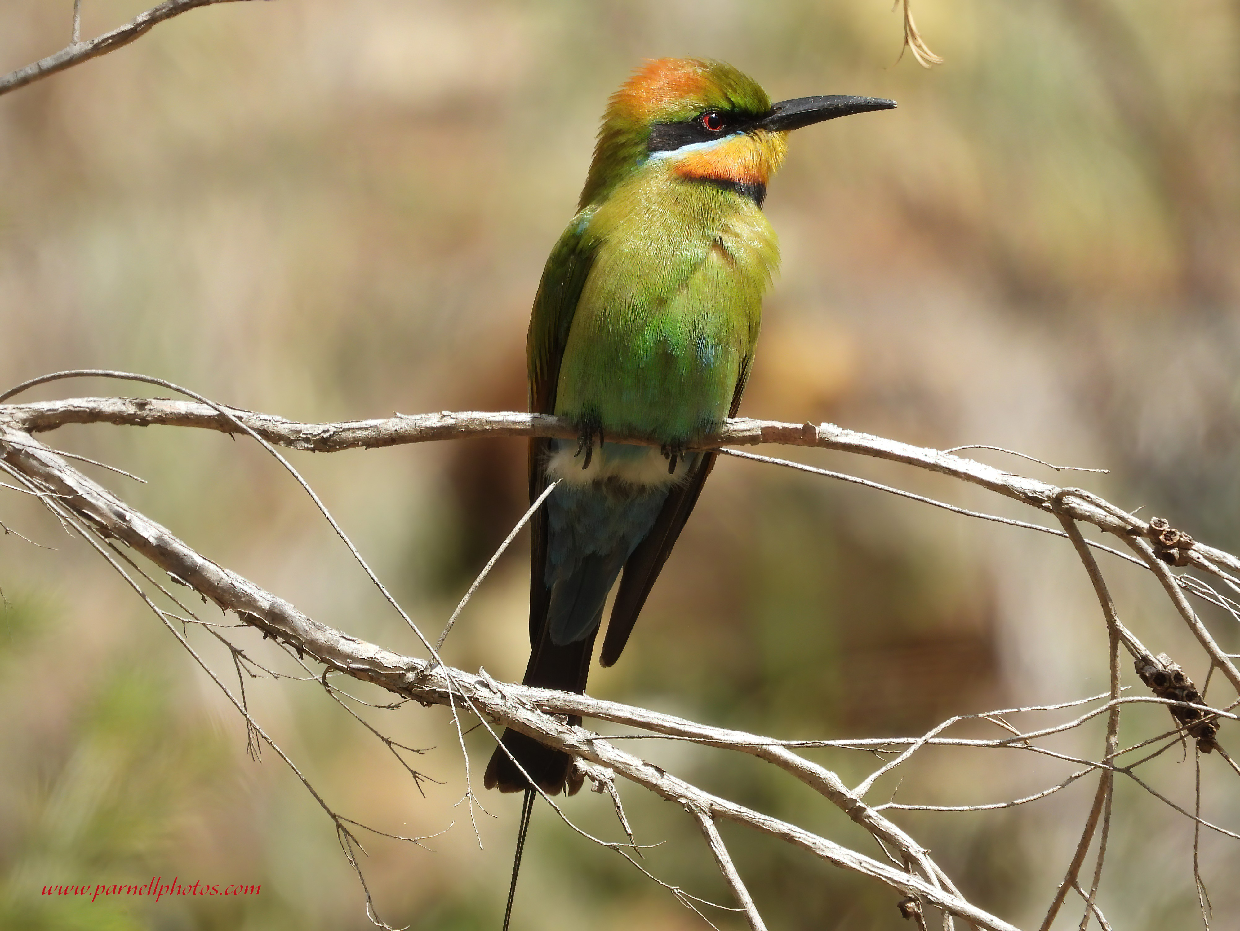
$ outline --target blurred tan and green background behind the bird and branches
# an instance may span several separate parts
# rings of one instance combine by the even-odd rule
[[[86,0],[83,35],[145,5]],[[72,0],[6,0],[0,71],[66,45],[71,12]],[[1106,467],[1056,474],[970,454],[1240,548],[1240,5],[919,0],[915,12],[946,60],[934,71],[900,58],[887,0],[300,0],[191,12],[0,99],[0,382],[129,369],[305,420],[523,409],[529,305],[606,95],[642,58],[707,56],[775,99],[900,104],[792,136],[766,202],[782,274],[743,414]],[[24,399],[113,393],[148,392],[76,381]],[[83,466],[314,617],[418,652],[306,496],[252,444],[103,425],[45,441],[145,477]],[[782,452],[1029,518],[915,470]],[[432,633],[525,507],[520,441],[294,461]],[[0,538],[0,925],[367,927],[331,823],[288,769],[269,750],[247,755],[238,715],[102,560],[26,497],[0,495],[5,524],[53,548]],[[522,537],[480,590],[449,662],[521,676],[527,550]],[[1114,559],[1104,570],[1123,620],[1200,683],[1199,650],[1154,583]],[[1235,624],[1205,616],[1240,651]],[[227,655],[201,630],[190,637],[234,687]],[[238,642],[299,672],[257,637]],[[951,714],[1105,692],[1105,647],[1063,541],[724,459],[626,655],[593,673],[590,692],[780,738],[919,734]],[[339,812],[438,834],[429,849],[363,838],[382,917],[498,927],[520,800],[484,796],[475,836],[469,806],[456,805],[464,772],[444,709],[357,705],[428,749],[410,757],[439,781],[423,795],[314,682],[248,681],[247,694]],[[1218,686],[1210,697],[1234,698]],[[1101,726],[1058,746],[1096,756]],[[1167,728],[1164,713],[1133,710],[1121,744]],[[489,738],[467,740],[477,774]],[[635,748],[879,855],[769,766]],[[856,752],[811,755],[849,783],[875,766]],[[928,750],[870,798],[997,802],[1070,771],[1016,750]],[[1179,748],[1143,771],[1192,808],[1193,760]],[[1235,829],[1228,775],[1203,759],[1203,813]],[[897,821],[977,904],[1037,926],[1094,785],[1021,808]],[[621,791],[639,842],[662,844],[645,865],[730,904],[692,821]],[[621,838],[606,798],[587,792],[564,810]],[[885,888],[723,832],[771,927],[908,927]],[[1200,859],[1225,926],[1240,907],[1240,849],[1207,832]],[[38,894],[154,875],[262,884],[262,894],[94,904]],[[1116,927],[1199,921],[1190,822],[1127,780],[1100,904]],[[1070,900],[1056,927],[1079,920]],[[539,810],[516,929],[704,926]]]

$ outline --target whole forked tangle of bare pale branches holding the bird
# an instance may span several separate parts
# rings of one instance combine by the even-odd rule
[[[53,377],[63,377],[63,374],[60,373]],[[92,374],[115,373],[93,372]],[[0,400],[6,397],[0,397]],[[728,818],[792,843],[843,869],[878,879],[900,895],[911,896],[919,902],[919,909],[924,905],[942,911],[945,915],[945,926],[950,926],[951,916],[956,916],[977,927],[1011,929],[1011,925],[1006,924],[1002,919],[990,915],[970,904],[959,893],[944,870],[930,858],[928,852],[882,813],[885,808],[921,808],[928,806],[889,803],[887,806],[872,807],[862,800],[864,792],[874,785],[878,777],[903,765],[913,752],[926,745],[1007,746],[1045,754],[1084,766],[1084,769],[1074,772],[1060,785],[1029,798],[1018,800],[1018,803],[1045,797],[1095,769],[1100,771],[1099,792],[1095,805],[1091,808],[1086,829],[1083,832],[1078,855],[1074,858],[1064,884],[1060,886],[1060,894],[1056,896],[1058,901],[1063,900],[1063,894],[1069,889],[1081,888],[1078,876],[1084,863],[1084,855],[1091,845],[1090,842],[1096,832],[1096,827],[1101,823],[1104,836],[1109,828],[1110,801],[1114,775],[1116,772],[1131,776],[1143,788],[1172,806],[1176,811],[1193,818],[1198,827],[1209,827],[1235,837],[1233,832],[1202,819],[1199,814],[1194,818],[1190,812],[1157,792],[1157,790],[1148,786],[1133,772],[1136,766],[1142,765],[1146,760],[1152,759],[1157,752],[1162,752],[1167,746],[1173,744],[1166,744],[1156,754],[1128,766],[1121,767],[1115,764],[1115,759],[1121,755],[1116,743],[1116,729],[1120,708],[1125,704],[1162,703],[1172,708],[1178,715],[1177,720],[1182,721],[1192,718],[1193,720],[1216,723],[1220,720],[1235,720],[1236,715],[1226,709],[1205,705],[1204,699],[1197,697],[1195,692],[1188,700],[1185,700],[1185,695],[1162,695],[1157,689],[1156,697],[1121,697],[1118,666],[1116,664],[1116,651],[1121,643],[1138,660],[1138,668],[1142,667],[1142,663],[1149,668],[1169,668],[1167,667],[1169,660],[1164,662],[1163,657],[1153,657],[1151,651],[1120,624],[1114,605],[1110,602],[1110,595],[1106,593],[1101,571],[1090,552],[1091,548],[1097,548],[1100,544],[1085,541],[1076,527],[1076,522],[1087,522],[1117,536],[1136,550],[1137,559],[1133,559],[1127,554],[1116,553],[1116,550],[1106,548],[1109,552],[1126,558],[1130,563],[1138,563],[1159,576],[1168,595],[1177,604],[1180,616],[1194,629],[1203,646],[1207,647],[1211,663],[1224,672],[1229,679],[1233,679],[1233,683],[1235,683],[1231,674],[1234,673],[1234,666],[1231,666],[1230,658],[1225,653],[1221,653],[1216,646],[1213,650],[1209,648],[1213,645],[1213,640],[1209,638],[1208,632],[1205,632],[1204,638],[1202,637],[1204,626],[1202,626],[1200,620],[1197,619],[1192,609],[1188,607],[1185,591],[1202,596],[1213,604],[1220,604],[1224,609],[1230,607],[1230,599],[1219,595],[1204,583],[1199,583],[1199,580],[1180,580],[1179,576],[1169,571],[1167,565],[1168,563],[1190,565],[1219,576],[1228,585],[1235,585],[1236,578],[1233,573],[1240,571],[1240,560],[1228,553],[1197,543],[1187,534],[1171,531],[1166,521],[1159,522],[1154,518],[1148,523],[1143,522],[1091,492],[1080,488],[1059,488],[1047,482],[998,470],[968,459],[846,430],[833,424],[789,424],[742,418],[728,420],[719,434],[706,438],[699,444],[703,449],[717,449],[720,444],[755,445],[774,443],[833,449],[903,462],[986,487],[1004,497],[1052,514],[1060,521],[1064,527],[1063,531],[1038,524],[1028,524],[1028,527],[1056,536],[1066,536],[1071,539],[1076,547],[1078,555],[1080,555],[1090,574],[1091,581],[1095,584],[1095,590],[1099,594],[1107,624],[1112,667],[1111,689],[1106,697],[1109,700],[1099,708],[1078,715],[1071,721],[1037,730],[1027,730],[1013,726],[1004,719],[1004,715],[1009,717],[1016,713],[1033,710],[1032,708],[1017,708],[987,714],[959,715],[921,738],[858,739],[851,741],[779,741],[771,738],[711,728],[647,709],[599,702],[588,695],[544,692],[542,689],[498,683],[486,676],[485,672],[479,676],[471,676],[444,666],[439,661],[435,648],[425,640],[423,640],[423,646],[427,648],[430,658],[423,660],[392,653],[383,647],[350,637],[339,630],[316,622],[299,612],[293,605],[196,553],[174,537],[166,528],[126,506],[93,480],[74,470],[55,450],[46,448],[32,436],[36,431],[52,430],[68,423],[112,423],[140,426],[174,425],[212,429],[226,434],[244,433],[257,439],[273,454],[275,454],[274,446],[327,452],[345,449],[378,448],[487,435],[573,438],[577,435],[573,424],[546,415],[476,412],[444,412],[414,417],[398,414],[392,418],[376,420],[309,424],[237,408],[222,408],[206,402],[206,399],[201,402],[180,402],[144,398],[78,398],[31,404],[0,404],[0,452],[2,452],[0,462],[2,462],[5,470],[20,476],[45,501],[55,502],[56,507],[63,510],[71,519],[81,522],[83,526],[89,526],[94,533],[105,539],[130,547],[169,573],[175,580],[187,584],[205,598],[211,599],[221,609],[237,612],[244,625],[254,627],[262,631],[264,637],[274,637],[279,643],[294,650],[299,660],[309,658],[322,663],[325,667],[324,672],[321,677],[315,673],[316,678],[325,681],[329,672],[345,673],[366,682],[372,682],[405,700],[414,699],[423,704],[446,705],[453,710],[454,715],[458,709],[469,709],[480,717],[489,730],[491,730],[491,724],[510,726],[547,744],[564,749],[577,757],[578,765],[590,776],[596,787],[601,785],[600,791],[610,791],[613,801],[616,805],[618,817],[625,832],[630,834],[630,841],[631,831],[627,827],[627,821],[624,818],[622,808],[619,806],[619,796],[615,793],[615,776],[627,779],[663,798],[681,805],[693,813],[694,818],[699,822],[699,827],[703,827],[703,819],[708,821],[713,828],[718,818]],[[641,441],[636,438],[616,439]],[[304,480],[298,476],[291,465],[281,456],[278,457],[305,487]],[[801,467],[799,464],[791,465]],[[805,469],[810,471],[825,471],[812,467]],[[828,475],[856,481],[854,477],[842,474]],[[906,493],[900,492],[898,488],[879,487],[885,491]],[[309,487],[306,490],[317,502],[314,492]],[[942,502],[932,500],[926,501],[929,503],[942,505]],[[947,507],[962,511],[954,506]],[[970,516],[985,516],[980,513],[973,514],[973,512],[966,513]],[[330,514],[327,519],[331,519]],[[1007,518],[1004,518],[1004,522],[1007,522]],[[1023,526],[1023,522],[1016,523]],[[515,532],[510,534],[510,539],[515,536]],[[381,591],[386,591],[382,584],[373,576],[373,573],[368,570],[356,548],[350,545],[350,549],[358,562],[367,568],[368,575],[379,585]],[[466,595],[463,604],[467,600]],[[397,610],[401,610],[399,606],[397,606]],[[165,620],[167,619],[165,617]],[[236,658],[236,653],[233,656]],[[1068,708],[1076,704],[1080,704],[1080,702],[1065,702],[1043,708]],[[1104,757],[1100,761],[1080,760],[1033,743],[1043,736],[1064,733],[1065,730],[1080,726],[1104,713],[1109,714],[1107,738]],[[816,792],[847,813],[856,823],[864,827],[874,837],[883,853],[893,859],[894,867],[866,857],[856,850],[839,847],[827,838],[807,832],[795,824],[770,818],[761,812],[704,792],[672,774],[646,764],[639,756],[619,750],[613,740],[593,734],[583,728],[570,728],[563,721],[562,717],[557,718],[554,715],[578,715],[595,720],[608,720],[640,728],[646,731],[646,736],[691,740],[706,746],[743,751],[773,762],[795,779],[811,786]],[[1006,734],[997,740],[941,736],[942,730],[965,718],[983,718],[1003,728]],[[1182,723],[1182,726],[1188,725]],[[1210,724],[1210,726],[1216,726],[1216,724]],[[1176,731],[1171,736],[1174,738],[1174,734]],[[1148,741],[1142,741],[1137,746],[1146,743]],[[794,752],[794,746],[842,746],[869,750],[872,752],[895,752],[897,748],[903,748],[904,752],[880,766],[857,790],[849,791],[833,771],[804,759]],[[600,783],[599,780],[603,780],[603,782]],[[469,790],[466,791],[466,797],[472,801]],[[551,802],[552,800],[548,798],[547,801]],[[1009,807],[1011,805],[1013,802],[1004,802],[999,806],[954,806],[945,807],[944,810],[977,811],[988,807]],[[556,810],[559,812],[558,807]],[[563,812],[559,813],[560,817],[564,817]],[[340,824],[337,823],[339,828]],[[712,836],[706,827],[703,827],[703,832],[708,842],[712,842]],[[591,839],[598,843],[605,843],[596,838]],[[618,844],[606,843],[606,845],[619,849]],[[1089,893],[1081,891],[1081,895],[1086,902],[1086,914],[1094,915],[1102,921],[1104,919],[1097,911],[1094,898],[1097,891],[1105,857],[1105,839],[1100,842],[1099,848],[1092,888]],[[748,898],[748,893],[744,891],[744,886],[737,885],[739,876],[729,875],[728,873],[727,864],[730,863],[730,858],[727,860],[722,859],[719,849],[715,849],[713,842],[712,849],[734,894],[742,902],[742,910],[745,912],[750,925],[759,927],[761,919],[753,906],[751,899]],[[632,862],[632,858],[627,853],[622,850],[621,853]],[[346,854],[348,854],[348,847],[346,847]],[[723,850],[723,854],[727,857],[725,850]],[[639,867],[639,869],[641,868]],[[735,873],[734,867],[732,868],[732,873]],[[683,890],[675,888],[673,893],[682,900],[687,896]]]

